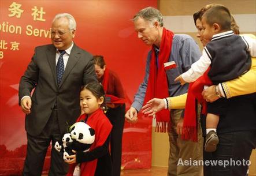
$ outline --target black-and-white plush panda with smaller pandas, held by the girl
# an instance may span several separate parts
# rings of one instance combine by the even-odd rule
[[[69,131],[70,133],[66,133],[62,137],[62,144],[57,141],[54,145],[57,151],[63,152],[64,160],[67,160],[66,156],[74,154],[72,150],[89,151],[95,140],[95,130],[84,121],[74,123]]]

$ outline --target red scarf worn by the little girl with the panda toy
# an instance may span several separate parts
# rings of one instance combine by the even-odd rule
[[[86,114],[81,115],[76,121],[79,122],[81,120],[86,119]],[[102,110],[97,110],[88,117],[87,122],[92,129],[95,130],[95,141],[91,145],[90,151],[94,148],[102,146],[107,137],[109,136],[112,125],[107,119],[106,115]],[[90,152],[89,151],[89,152]],[[97,167],[98,159],[92,160],[91,162],[84,162],[80,165],[80,175],[81,176],[94,176],[95,170]],[[71,164],[69,166],[69,171],[67,176],[72,176],[75,170],[76,164]]]

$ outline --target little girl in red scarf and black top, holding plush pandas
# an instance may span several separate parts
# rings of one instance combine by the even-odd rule
[[[101,110],[104,103],[104,90],[99,83],[89,83],[81,87],[80,106],[84,114],[77,121],[84,120],[95,130],[95,141],[88,152],[76,152],[68,156],[71,164],[67,176],[109,176],[112,173],[112,163],[109,153],[109,139],[112,125]],[[80,163],[80,170],[75,170]],[[75,170],[75,171],[74,171]]]

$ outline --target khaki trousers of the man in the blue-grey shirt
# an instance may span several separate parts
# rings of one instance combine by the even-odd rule
[[[202,164],[201,166],[200,164],[197,164],[197,166],[190,164],[190,161],[193,162],[195,160],[199,163],[199,161],[202,162],[203,160],[203,137],[200,118],[198,118],[197,124],[198,143],[182,140],[181,136],[176,133],[177,123],[180,120],[181,113],[182,110],[170,111],[172,128],[169,132],[170,151],[168,176],[202,176]],[[188,162],[188,164],[185,162]]]

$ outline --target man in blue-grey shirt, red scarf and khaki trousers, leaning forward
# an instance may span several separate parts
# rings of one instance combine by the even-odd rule
[[[137,113],[143,104],[152,98],[179,97],[187,92],[188,85],[181,87],[175,83],[175,78],[191,68],[191,64],[199,59],[201,52],[195,41],[188,35],[174,34],[163,26],[163,17],[159,10],[145,8],[134,17],[133,23],[138,38],[152,46],[147,56],[146,74],[140,84],[134,101],[125,114],[130,122],[136,122]],[[177,101],[177,102],[176,102]],[[170,153],[168,176],[202,175],[202,166],[182,166],[179,161],[202,160],[202,137],[199,143],[181,140],[176,133],[181,118],[182,109],[178,109],[179,98],[171,100],[172,110],[162,110],[156,114],[157,132],[168,132]],[[168,104],[169,103],[169,104]],[[181,103],[185,103],[181,102]],[[202,136],[199,134],[198,136]]]

